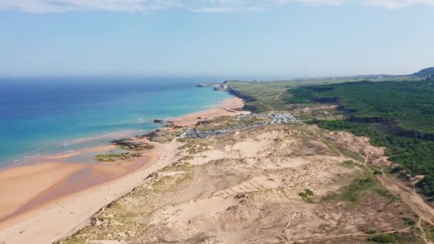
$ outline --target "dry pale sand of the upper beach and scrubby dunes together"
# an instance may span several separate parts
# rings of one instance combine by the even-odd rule
[[[362,243],[366,226],[378,233],[408,230],[402,218],[413,212],[384,194],[367,193],[353,206],[333,197],[370,174],[362,160],[348,163],[349,156],[333,149],[348,142],[345,148],[367,161],[381,158],[364,138],[314,126],[160,143],[150,168],[61,200],[0,233],[0,240],[49,243],[81,229],[86,222],[80,220],[92,213],[86,228],[61,243]],[[301,195],[307,189],[311,195]],[[119,198],[117,192],[129,193]]]

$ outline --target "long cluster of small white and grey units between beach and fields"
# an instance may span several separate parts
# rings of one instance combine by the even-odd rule
[[[188,130],[181,133],[180,138],[207,138],[208,136],[220,135],[223,133],[240,131],[245,128],[252,128],[257,126],[266,126],[268,124],[276,124],[276,123],[292,123],[296,122],[297,118],[294,117],[291,113],[252,113],[252,114],[243,114],[237,117],[237,119],[241,118],[260,118],[260,117],[268,117],[271,118],[271,121],[263,121],[256,123],[248,123],[240,126],[233,126],[229,128],[223,128],[220,130],[211,130],[211,131],[199,131],[197,128],[189,128]]]

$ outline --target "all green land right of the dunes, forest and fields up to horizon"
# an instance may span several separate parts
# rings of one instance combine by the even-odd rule
[[[434,82],[432,69],[415,76],[365,79],[243,82],[229,88],[250,99],[251,111],[290,111],[330,131],[367,136],[398,163],[398,176],[423,175],[417,186],[434,198]],[[351,151],[355,161],[362,158]]]

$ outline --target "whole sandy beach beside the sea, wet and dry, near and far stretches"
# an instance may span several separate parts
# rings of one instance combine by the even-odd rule
[[[205,119],[248,113],[241,110],[243,104],[241,98],[228,98],[213,108],[174,118],[173,123],[188,127]],[[26,243],[26,241],[39,243],[39,240],[34,240],[34,236],[39,233],[38,231],[43,231],[41,233],[44,233],[44,236],[40,238],[44,240],[41,240],[40,243],[46,243],[47,240],[53,242],[64,237],[67,233],[74,232],[80,225],[87,223],[86,221],[89,220],[90,216],[104,205],[131,191],[153,171],[171,163],[170,159],[173,158],[171,153],[176,151],[176,148],[166,147],[156,144],[156,148],[151,149],[140,158],[122,161],[121,166],[118,166],[120,161],[111,162],[110,165],[109,163],[101,165],[62,162],[79,156],[85,151],[87,153],[96,153],[97,151],[109,151],[114,148],[114,146],[99,146],[45,156],[46,162],[29,163],[24,166],[13,166],[1,170],[1,195],[16,197],[14,193],[20,191],[20,189],[27,190],[27,195],[19,194],[19,199],[8,198],[9,201],[2,200],[0,202],[0,209],[2,210],[0,211],[0,242],[7,240],[7,243]],[[57,178],[51,177],[55,172],[52,171],[53,168],[59,169]],[[38,177],[34,176],[34,172],[39,173]],[[79,187],[74,186],[75,188],[71,188],[74,183],[80,183],[80,181],[93,181],[93,183],[86,182],[79,185]],[[21,188],[17,189],[14,185],[19,182],[21,182]],[[28,185],[33,182],[43,184],[34,184],[32,185],[34,188],[30,189]],[[96,194],[101,192],[109,196],[104,198],[101,194]],[[74,204],[78,203],[79,199],[82,198],[81,205]],[[68,209],[74,209],[70,212],[70,215],[79,215],[79,218],[68,220],[59,218],[57,215],[64,214],[62,210],[66,208],[66,205],[69,206]],[[91,205],[92,208],[86,207],[86,205]],[[57,213],[54,210],[57,210]],[[44,225],[49,226],[44,228],[36,224],[41,220],[44,220]],[[58,221],[66,221],[66,223],[61,226],[56,225]],[[29,231],[29,228],[34,232]],[[41,229],[39,230],[39,228]],[[50,233],[46,233],[47,228],[50,229]],[[68,231],[66,232],[66,230]],[[56,235],[52,235],[54,232],[56,232]]]

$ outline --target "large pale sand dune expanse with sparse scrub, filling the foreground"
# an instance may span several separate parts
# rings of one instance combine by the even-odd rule
[[[64,243],[106,243],[106,238],[125,243],[291,243],[360,233],[354,223],[407,228],[398,215],[405,206],[387,213],[370,207],[352,213],[345,203],[321,201],[360,170],[343,165],[348,158],[324,148],[320,137],[303,136],[306,129],[311,127],[266,126],[181,144],[173,149],[183,158],[173,157],[176,167],[153,173]],[[191,151],[197,146],[204,151]],[[316,204],[303,200],[300,193],[306,189]],[[124,220],[119,214],[134,217]]]

